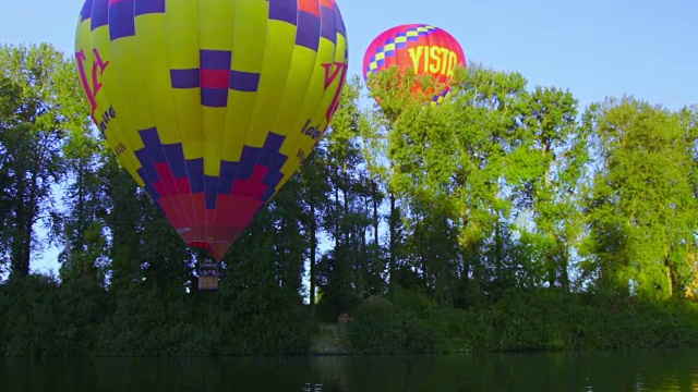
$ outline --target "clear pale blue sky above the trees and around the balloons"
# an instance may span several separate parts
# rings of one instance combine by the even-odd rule
[[[170,0],[173,1],[173,0]],[[569,89],[586,107],[633,94],[678,109],[698,103],[698,0],[337,0],[350,74],[384,29],[428,23],[468,60],[518,71],[530,85]],[[0,1],[0,42],[47,41],[73,52],[82,0]],[[57,268],[49,252],[35,268]]]

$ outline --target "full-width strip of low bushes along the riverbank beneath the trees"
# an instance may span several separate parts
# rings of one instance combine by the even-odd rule
[[[325,309],[326,310],[326,309]],[[515,292],[467,307],[396,291],[315,318],[292,291],[188,295],[33,277],[0,285],[0,356],[359,355],[698,346],[685,299]]]

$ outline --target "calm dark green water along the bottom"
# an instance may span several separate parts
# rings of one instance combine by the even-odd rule
[[[0,391],[698,391],[698,351],[0,360]]]

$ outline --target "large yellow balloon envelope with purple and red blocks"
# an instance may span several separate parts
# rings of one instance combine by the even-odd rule
[[[335,0],[86,0],[75,57],[107,145],[217,265],[326,132],[348,47]]]

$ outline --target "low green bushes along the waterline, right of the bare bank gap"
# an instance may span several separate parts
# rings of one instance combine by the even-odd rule
[[[322,324],[311,352],[418,354],[698,347],[698,306],[559,293],[519,293],[469,309],[426,296],[372,297],[348,326]]]

